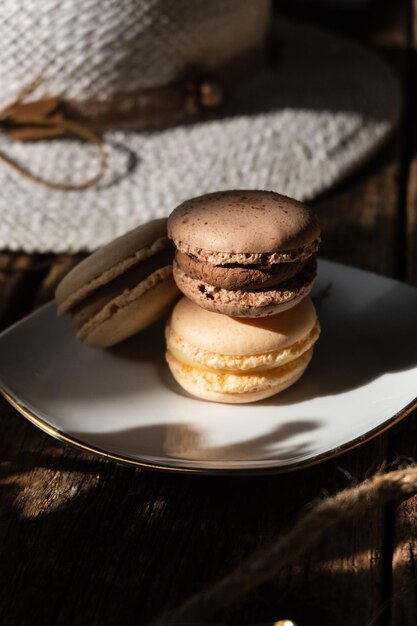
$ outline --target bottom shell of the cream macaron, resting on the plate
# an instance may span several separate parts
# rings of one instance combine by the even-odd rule
[[[249,375],[187,367],[167,354],[169,368],[178,384],[191,395],[212,402],[243,404],[273,396],[293,385],[305,372],[313,349],[273,370]]]

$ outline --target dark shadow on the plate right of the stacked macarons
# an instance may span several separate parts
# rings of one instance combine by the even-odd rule
[[[416,292],[417,293],[417,292]],[[288,390],[261,401],[286,405],[344,393],[376,378],[417,367],[417,295],[404,300],[404,286],[393,287],[371,305],[343,314],[338,293],[337,314],[320,316],[322,333],[304,376]],[[417,384],[416,384],[417,396]]]

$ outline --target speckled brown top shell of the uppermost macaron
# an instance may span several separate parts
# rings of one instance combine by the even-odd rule
[[[314,254],[320,227],[301,202],[273,191],[239,190],[183,202],[168,218],[168,235],[182,252],[214,265],[269,264]]]

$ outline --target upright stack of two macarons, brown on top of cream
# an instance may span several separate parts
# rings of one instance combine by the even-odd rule
[[[274,192],[225,191],[168,219],[174,279],[186,298],[167,325],[167,361],[191,394],[220,402],[274,395],[305,371],[319,336],[308,294],[320,229]]]

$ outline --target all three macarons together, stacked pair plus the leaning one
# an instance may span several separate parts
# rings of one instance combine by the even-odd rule
[[[58,314],[70,315],[81,341],[104,348],[154,322],[182,292],[166,327],[177,382],[216,402],[260,400],[292,385],[312,357],[319,243],[317,219],[295,200],[207,194],[77,265],[56,290]]]

